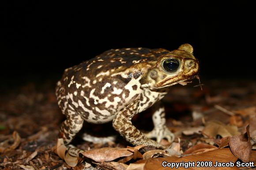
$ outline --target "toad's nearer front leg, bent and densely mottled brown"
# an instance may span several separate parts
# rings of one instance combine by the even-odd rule
[[[136,104],[133,106],[135,105]],[[143,133],[139,131],[139,129],[133,126],[131,120],[134,115],[135,114],[132,106],[125,109],[124,111],[120,111],[116,118],[113,120],[114,129],[117,130],[117,132],[119,132],[120,135],[125,138],[125,140],[133,145],[144,144],[155,148],[165,148],[158,142],[147,138]]]

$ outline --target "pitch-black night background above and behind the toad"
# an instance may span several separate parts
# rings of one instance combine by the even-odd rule
[[[192,44],[203,79],[252,78],[256,11],[248,1],[83,1],[5,4],[1,85],[60,78],[110,48]]]

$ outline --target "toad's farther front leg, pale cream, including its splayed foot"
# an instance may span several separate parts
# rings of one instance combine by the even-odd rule
[[[146,133],[145,136],[148,138],[156,138],[157,142],[160,142],[163,138],[166,138],[169,142],[173,142],[174,134],[166,127],[166,114],[162,102],[156,102],[151,108],[154,111],[152,115],[154,129]]]

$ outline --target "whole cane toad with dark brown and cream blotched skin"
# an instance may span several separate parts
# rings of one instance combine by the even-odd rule
[[[162,138],[173,141],[166,127],[160,100],[169,87],[194,78],[199,70],[190,44],[177,50],[149,48],[111,49],[64,71],[57,83],[58,105],[67,119],[60,137],[72,141],[83,122],[113,122],[113,128],[134,145],[164,148]],[[154,106],[153,106],[154,105]],[[133,126],[132,117],[153,106],[154,129],[147,134]],[[150,138],[156,138],[156,141]]]

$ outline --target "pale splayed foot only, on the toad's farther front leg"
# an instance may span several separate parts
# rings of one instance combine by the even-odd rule
[[[173,142],[174,134],[169,131],[169,129],[164,126],[163,128],[154,128],[151,132],[145,133],[145,136],[148,138],[156,138],[156,141],[159,143],[163,138],[166,138],[168,142]]]

